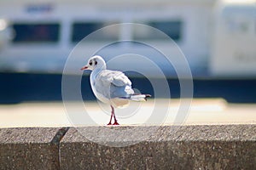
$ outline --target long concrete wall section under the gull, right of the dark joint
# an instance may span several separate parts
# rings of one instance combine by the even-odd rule
[[[106,128],[121,133],[97,136]],[[109,147],[70,128],[60,144],[61,169],[256,169],[256,125],[136,127],[128,134],[122,128],[132,129],[80,127],[79,132],[94,132],[95,140],[107,145],[154,133],[138,144]]]

